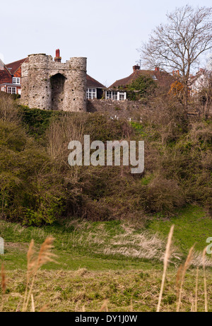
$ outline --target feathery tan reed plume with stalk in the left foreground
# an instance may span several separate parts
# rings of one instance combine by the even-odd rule
[[[38,253],[37,257],[34,256],[34,250],[33,250],[33,242],[30,243],[30,248],[28,250],[28,272],[27,272],[27,279],[28,284],[30,281],[30,277],[32,276],[32,281],[30,284],[30,289],[26,289],[25,293],[25,301],[23,302],[23,312],[25,312],[28,308],[28,304],[30,301],[31,293],[33,291],[33,286],[35,283],[35,278],[37,276],[37,271],[42,267],[43,264],[47,262],[55,262],[55,260],[52,259],[52,257],[56,257],[56,255],[52,254],[50,250],[53,248],[54,238],[47,237],[45,242],[42,243],[40,247],[40,252]]]

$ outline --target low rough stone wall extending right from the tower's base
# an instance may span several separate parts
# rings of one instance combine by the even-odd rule
[[[117,100],[87,100],[88,112],[106,112],[110,117],[125,118],[128,120],[142,120],[152,109],[140,101]]]

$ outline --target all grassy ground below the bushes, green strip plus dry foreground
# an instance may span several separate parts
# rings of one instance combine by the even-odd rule
[[[6,240],[5,255],[1,256],[7,273],[7,293],[4,310],[16,310],[25,289],[26,252],[28,243],[34,238],[39,244],[47,235],[55,238],[54,253],[59,264],[49,263],[40,271],[35,283],[36,309],[49,303],[49,311],[98,311],[104,300],[109,300],[110,311],[155,311],[160,291],[163,262],[158,258],[126,257],[120,254],[106,255],[104,248],[113,244],[119,250],[123,239],[131,240],[143,232],[136,226],[132,238],[127,238],[131,225],[118,222],[80,222],[71,221],[66,226],[43,226],[42,228],[23,228],[18,224],[1,221],[1,236]],[[175,223],[174,242],[182,254],[182,260],[191,245],[202,250],[206,238],[211,235],[211,219],[204,211],[189,207],[178,217],[163,221],[157,216],[148,225],[148,233],[158,231],[166,238],[170,225]],[[124,228],[123,228],[124,226]],[[114,243],[116,239],[116,243]],[[119,241],[117,241],[119,240]],[[120,244],[119,244],[120,242]],[[139,247],[129,247],[133,250]],[[98,248],[98,250],[96,250]],[[161,245],[164,250],[164,244]],[[182,310],[189,311],[194,301],[194,279],[196,269],[190,268],[184,284]],[[206,270],[208,286],[208,307],[212,310],[211,268]],[[163,295],[162,310],[174,311],[176,302],[177,268],[171,264]],[[198,308],[204,310],[204,281],[200,269]]]

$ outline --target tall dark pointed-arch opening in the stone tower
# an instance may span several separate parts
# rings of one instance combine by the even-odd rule
[[[50,78],[52,110],[63,110],[64,101],[64,84],[66,77],[61,74],[56,74]]]

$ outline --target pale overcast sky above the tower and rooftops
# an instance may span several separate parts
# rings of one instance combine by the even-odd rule
[[[87,57],[90,76],[110,86],[129,76],[141,41],[176,6],[211,0],[0,0],[0,58],[4,63],[61,50],[62,62]]]

